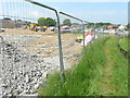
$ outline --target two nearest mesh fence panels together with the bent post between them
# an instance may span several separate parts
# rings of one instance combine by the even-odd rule
[[[0,96],[37,95],[48,74],[64,78],[83,56],[81,20],[27,1],[0,1]]]

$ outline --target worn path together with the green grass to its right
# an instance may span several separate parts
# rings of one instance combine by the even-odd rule
[[[112,37],[104,46],[106,63],[104,75],[106,81],[102,95],[127,96],[128,95],[128,60],[118,49],[118,38]],[[109,86],[109,87],[108,87]]]

